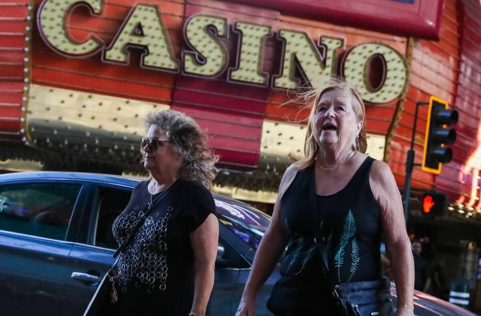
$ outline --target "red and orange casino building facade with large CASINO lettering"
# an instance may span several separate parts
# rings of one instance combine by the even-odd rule
[[[367,153],[402,191],[415,103],[434,95],[459,113],[454,158],[438,175],[415,168],[408,229],[440,245],[433,257],[473,253],[448,272],[475,288],[479,1],[264,2],[1,2],[0,169],[141,173],[142,118],[174,109],[208,131],[222,170],[215,190],[271,204],[288,154],[302,154],[309,109],[295,93],[339,75],[366,103]],[[426,122],[421,107],[416,163]],[[420,215],[428,189],[448,196],[442,218]]]

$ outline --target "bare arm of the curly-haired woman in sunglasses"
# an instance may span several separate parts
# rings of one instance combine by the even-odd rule
[[[206,314],[207,303],[214,286],[215,258],[219,241],[219,221],[214,214],[190,233],[194,253],[194,301],[191,312],[197,316]]]

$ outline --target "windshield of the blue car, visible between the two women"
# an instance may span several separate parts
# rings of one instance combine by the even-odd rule
[[[215,200],[219,220],[252,248],[257,249],[270,223],[270,216],[239,201]]]

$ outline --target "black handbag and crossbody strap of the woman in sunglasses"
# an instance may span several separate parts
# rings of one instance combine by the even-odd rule
[[[135,233],[144,224],[145,219],[150,214],[152,205],[162,200],[169,188],[170,187],[165,189],[161,193],[161,195],[157,197],[156,201],[154,201],[153,203],[149,203],[147,211],[145,212],[145,214],[142,215],[142,217],[140,217],[137,224],[135,224],[134,229],[130,232],[129,236],[127,237],[127,239],[125,239],[122,245],[120,245],[120,247],[115,251],[115,253],[113,254],[113,258],[117,258],[125,250],[125,248],[132,242],[132,240],[134,239]],[[110,267],[110,269],[108,269],[107,273],[102,279],[102,282],[99,284],[99,286],[97,287],[97,290],[92,296],[92,299],[90,299],[90,302],[88,303],[88,306],[85,309],[83,316],[104,316],[104,315],[113,314],[114,304],[117,302],[117,299],[118,299],[117,289],[115,287],[115,282],[117,279],[117,273],[115,272],[115,267],[117,266],[119,258],[117,258],[117,260],[115,260],[115,263]]]

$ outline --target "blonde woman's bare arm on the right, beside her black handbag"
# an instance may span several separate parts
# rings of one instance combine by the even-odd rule
[[[396,282],[396,315],[414,315],[414,259],[406,232],[401,194],[391,169],[382,161],[374,161],[369,180],[381,209],[384,243]]]

